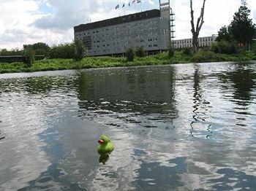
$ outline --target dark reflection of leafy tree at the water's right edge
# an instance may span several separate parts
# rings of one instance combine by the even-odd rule
[[[231,113],[238,114],[236,116],[236,125],[246,126],[246,117],[255,115],[249,112],[249,107],[254,103],[255,96],[255,64],[237,63],[236,69],[228,71],[220,76],[222,81],[222,89],[224,90],[224,98],[236,104]],[[227,93],[228,94],[227,94]],[[229,95],[231,94],[231,95]]]

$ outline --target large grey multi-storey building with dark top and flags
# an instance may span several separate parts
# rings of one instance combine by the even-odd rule
[[[74,27],[88,55],[122,55],[130,47],[149,54],[167,50],[170,42],[170,9],[152,9]]]

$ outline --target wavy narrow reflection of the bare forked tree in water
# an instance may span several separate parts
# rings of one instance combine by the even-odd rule
[[[200,87],[200,83],[202,81],[203,77],[200,75],[199,67],[195,65],[195,73],[194,73],[194,94],[193,94],[193,121],[190,123],[191,129],[190,134],[192,136],[193,133],[195,133],[194,124],[196,123],[207,123],[206,122],[206,112],[208,112],[208,109],[211,107],[209,106],[210,102],[206,101],[206,99],[203,96],[203,89]],[[206,138],[211,136],[211,125],[208,125],[208,128],[206,129],[208,131],[208,134]]]

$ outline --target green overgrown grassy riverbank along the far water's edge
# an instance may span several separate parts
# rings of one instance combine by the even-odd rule
[[[82,61],[72,59],[48,59],[45,61],[35,61],[31,67],[25,63],[0,63],[0,73],[31,72],[31,71],[53,71],[65,69],[93,69],[118,66],[146,66],[165,65],[173,63],[206,63],[223,61],[256,61],[256,54],[244,52],[243,54],[224,55],[211,51],[197,52],[195,55],[187,55],[178,51],[173,58],[168,58],[167,53],[151,55],[143,58],[135,58],[133,62],[127,62],[126,58],[113,57],[87,57]]]

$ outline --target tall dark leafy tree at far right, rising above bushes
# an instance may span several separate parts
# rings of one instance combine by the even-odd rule
[[[236,39],[237,42],[244,46],[249,46],[252,43],[252,38],[256,31],[255,24],[252,23],[252,19],[249,19],[250,12],[250,9],[244,4],[235,13],[230,23],[230,32],[233,39]]]

